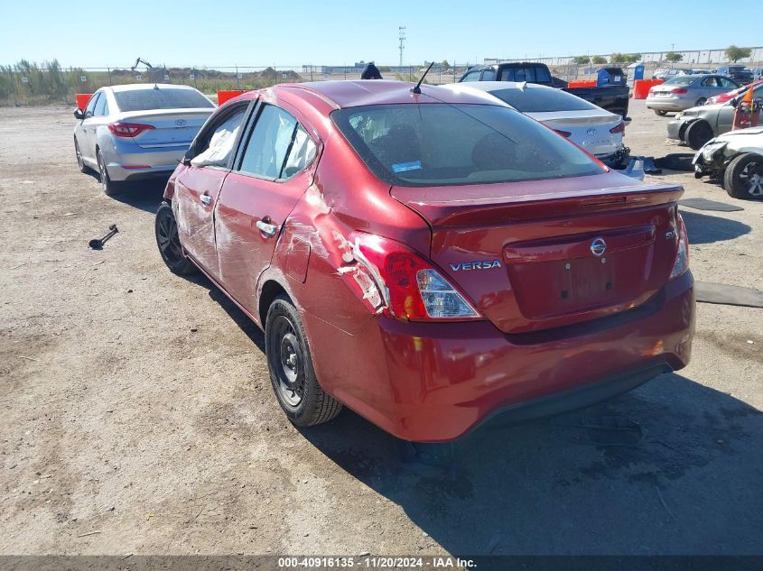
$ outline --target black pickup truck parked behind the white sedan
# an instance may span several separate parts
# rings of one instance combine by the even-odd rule
[[[623,118],[628,116],[628,86],[567,87],[567,82],[554,78],[544,63],[510,62],[476,66],[467,69],[459,81],[526,81],[557,87],[610,113],[616,113]]]

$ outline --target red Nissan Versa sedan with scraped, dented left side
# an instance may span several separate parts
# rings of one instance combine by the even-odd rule
[[[582,407],[688,363],[680,186],[613,172],[497,100],[396,81],[246,93],[156,215],[265,330],[298,426],[348,406],[397,437]]]

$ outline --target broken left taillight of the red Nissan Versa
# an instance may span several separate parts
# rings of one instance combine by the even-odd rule
[[[364,233],[353,234],[351,240],[355,262],[376,282],[386,316],[403,320],[481,319],[451,281],[404,244]],[[368,280],[356,277],[355,281],[364,298],[375,296],[367,290]]]

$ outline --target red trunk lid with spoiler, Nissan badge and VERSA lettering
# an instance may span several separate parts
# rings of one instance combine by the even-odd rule
[[[608,173],[390,192],[432,226],[442,271],[496,327],[518,333],[653,298],[675,260],[683,189]]]

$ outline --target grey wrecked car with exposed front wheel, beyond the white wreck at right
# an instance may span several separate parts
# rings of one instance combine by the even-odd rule
[[[739,95],[726,103],[693,107],[675,115],[667,124],[667,138],[686,143],[698,151],[713,136],[731,130],[734,112],[747,93],[747,89],[742,89]],[[763,83],[753,87],[752,97],[755,100],[763,97]]]

